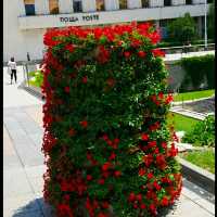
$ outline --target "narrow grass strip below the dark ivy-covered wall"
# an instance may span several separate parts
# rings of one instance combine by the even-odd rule
[[[215,93],[215,90],[202,90],[202,91],[192,91],[192,92],[182,92],[174,95],[174,102],[186,101],[186,100],[195,100],[200,98],[208,98]]]

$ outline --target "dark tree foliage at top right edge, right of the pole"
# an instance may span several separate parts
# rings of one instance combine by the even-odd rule
[[[209,7],[207,21],[208,38],[215,40],[215,1]]]

